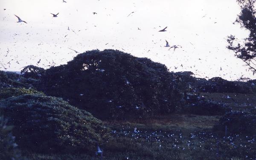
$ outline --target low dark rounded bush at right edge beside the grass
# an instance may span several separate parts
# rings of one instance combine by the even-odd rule
[[[248,111],[226,113],[215,125],[215,130],[225,132],[226,125],[228,134],[256,135],[256,114]]]

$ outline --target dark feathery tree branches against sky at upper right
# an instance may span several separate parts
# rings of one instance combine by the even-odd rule
[[[250,34],[244,41],[239,42],[234,35],[227,39],[227,48],[235,52],[235,56],[247,64],[253,74],[256,73],[256,17],[255,0],[237,0],[241,7],[241,13],[236,19],[242,28],[247,29]],[[234,44],[235,43],[235,44]]]

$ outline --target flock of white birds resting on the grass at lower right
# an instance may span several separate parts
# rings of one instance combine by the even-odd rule
[[[159,148],[167,147],[176,150],[197,150],[202,148],[216,153],[216,158],[220,156],[219,145],[226,144],[230,148],[242,148],[250,143],[256,143],[255,137],[241,136],[234,134],[226,135],[219,138],[217,135],[207,132],[195,132],[189,135],[184,135],[180,130],[173,131],[139,131],[134,128],[134,131],[129,129],[130,126],[123,126],[122,129],[113,130],[114,137],[128,137],[131,140],[145,140],[152,145],[158,145]],[[216,143],[212,143],[212,142]],[[211,145],[207,145],[211,142]],[[246,157],[244,157],[246,158]],[[129,159],[129,157],[127,157]]]

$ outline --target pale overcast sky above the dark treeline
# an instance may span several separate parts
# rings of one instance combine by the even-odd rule
[[[256,79],[226,48],[228,35],[248,35],[233,24],[240,12],[236,0],[66,1],[0,0],[0,62],[7,70],[40,59],[39,67],[65,64],[76,56],[70,47],[78,52],[119,49],[202,78]],[[50,14],[58,12],[58,17]],[[14,14],[27,24],[16,23]],[[166,26],[166,32],[158,32]],[[182,48],[168,50],[165,40]]]

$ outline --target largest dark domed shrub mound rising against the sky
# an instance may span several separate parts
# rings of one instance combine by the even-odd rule
[[[41,81],[47,95],[102,119],[169,113],[182,99],[165,65],[112,49],[79,54],[47,69]]]

